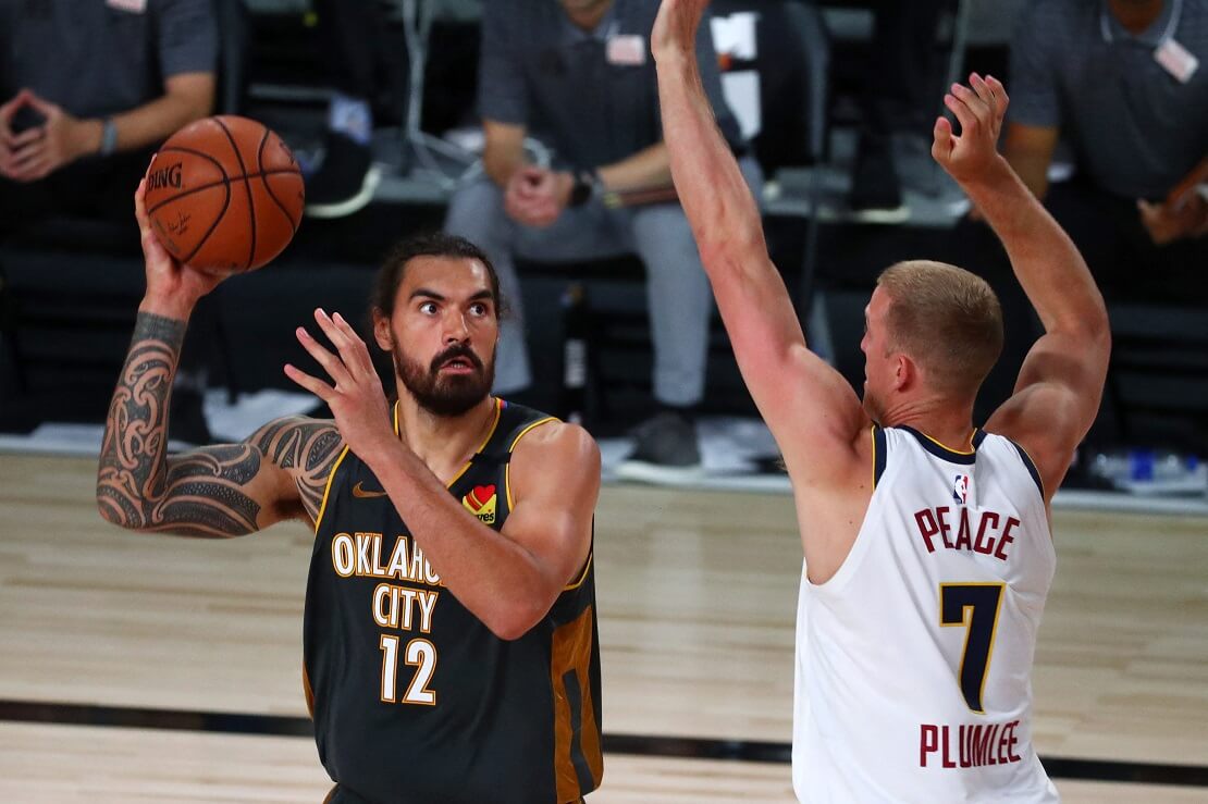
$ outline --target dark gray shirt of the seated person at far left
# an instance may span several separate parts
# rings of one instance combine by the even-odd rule
[[[165,78],[217,68],[213,0],[0,0],[0,97],[29,87],[77,117],[141,106]]]

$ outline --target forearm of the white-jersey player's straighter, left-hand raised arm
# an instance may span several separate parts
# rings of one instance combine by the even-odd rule
[[[672,177],[710,276],[766,255],[759,208],[713,117],[695,53],[658,57],[658,99]]]

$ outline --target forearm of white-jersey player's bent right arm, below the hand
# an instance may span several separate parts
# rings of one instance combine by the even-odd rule
[[[1006,247],[1046,332],[1107,332],[1103,296],[1082,255],[1006,159],[999,157],[963,190]]]

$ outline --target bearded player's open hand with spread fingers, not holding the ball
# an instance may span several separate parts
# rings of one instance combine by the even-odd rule
[[[333,384],[329,385],[290,363],[285,365],[285,375],[327,403],[344,443],[372,466],[374,450],[395,441],[390,427],[390,404],[382,390],[382,380],[365,342],[344,316],[339,313],[329,316],[320,308],[314,311],[314,320],[337,354],[327,351],[304,327],[297,328],[297,338]]]

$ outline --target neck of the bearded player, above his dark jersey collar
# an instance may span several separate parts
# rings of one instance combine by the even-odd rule
[[[439,416],[402,392],[399,437],[442,480],[457,473],[482,445],[495,423],[495,397],[487,395],[459,416]]]

